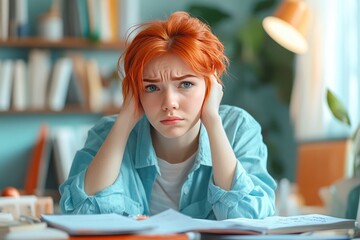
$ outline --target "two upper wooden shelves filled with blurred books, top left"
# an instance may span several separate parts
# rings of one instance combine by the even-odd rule
[[[121,94],[121,86],[113,73],[116,72],[117,58],[125,47],[125,40],[121,38],[121,29],[124,26],[121,26],[118,14],[121,1],[47,0],[33,3],[29,0],[4,0],[4,3],[1,3],[2,7],[9,9],[9,15],[5,23],[3,20],[0,22],[0,51],[4,50],[5,53],[0,57],[0,68],[2,72],[7,70],[8,74],[0,74],[0,87],[3,89],[0,92],[3,95],[0,97],[1,115],[112,114],[119,110],[121,101],[114,92]],[[15,6],[16,4],[18,5]],[[18,12],[14,13],[12,10],[18,8],[23,8],[23,11],[18,12],[27,12],[24,24],[17,21],[22,19],[22,16],[16,16]],[[56,38],[49,33],[53,32],[56,26],[48,25],[54,20],[60,21],[62,26],[60,30],[56,28],[62,32],[55,34]],[[45,28],[47,31],[41,31],[45,25],[48,26]],[[5,28],[8,29],[6,34],[3,31]],[[19,28],[27,30],[19,32]],[[34,52],[36,54],[33,54]],[[32,61],[39,58],[40,61]],[[22,65],[21,70],[20,66],[16,65],[19,60],[22,61],[19,64]],[[20,78],[24,80],[18,80],[16,74],[21,74]],[[6,78],[11,80],[2,80]],[[37,78],[41,79],[36,80]],[[4,83],[6,81],[7,83]],[[75,84],[71,85],[74,81]],[[15,93],[15,82],[18,85],[27,85],[21,87],[26,90],[21,90],[21,94]],[[39,86],[38,89],[35,89],[35,86]],[[74,87],[77,89],[70,94],[78,95],[75,96],[78,106],[67,106],[73,104],[73,100],[68,101],[69,93],[64,100],[64,92],[71,91]],[[104,98],[104,95],[109,94],[112,95]],[[18,107],[19,101],[22,102],[21,107]],[[64,101],[66,103],[63,103]]]

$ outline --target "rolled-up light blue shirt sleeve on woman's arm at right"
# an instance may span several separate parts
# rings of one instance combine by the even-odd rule
[[[249,114],[242,115],[244,120],[238,124],[231,121],[224,124],[238,159],[232,187],[226,191],[213,180],[209,183],[208,200],[218,220],[264,218],[275,212],[276,182],[266,169],[267,148],[261,128]]]

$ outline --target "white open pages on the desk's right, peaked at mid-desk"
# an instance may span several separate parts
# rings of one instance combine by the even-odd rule
[[[351,228],[352,220],[334,218],[326,215],[309,214],[291,217],[273,216],[265,219],[237,218],[224,221],[194,219],[182,213],[169,209],[152,216],[144,223],[157,226],[151,233],[167,234],[174,232],[201,231],[201,232],[242,232],[259,233],[291,233],[316,231],[317,229]],[[322,227],[323,226],[323,227]],[[254,232],[253,232],[254,233]]]

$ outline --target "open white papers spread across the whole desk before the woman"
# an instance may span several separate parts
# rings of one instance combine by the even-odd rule
[[[215,221],[194,219],[172,209],[142,221],[117,214],[42,215],[42,219],[50,226],[65,230],[70,235],[173,234],[194,231],[232,234],[287,234],[355,228],[355,220],[319,214]]]

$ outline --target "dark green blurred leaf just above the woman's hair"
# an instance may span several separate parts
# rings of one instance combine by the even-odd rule
[[[230,18],[227,12],[221,11],[219,8],[193,4],[189,6],[188,12],[191,16],[201,19],[210,25],[211,28],[219,22]]]

